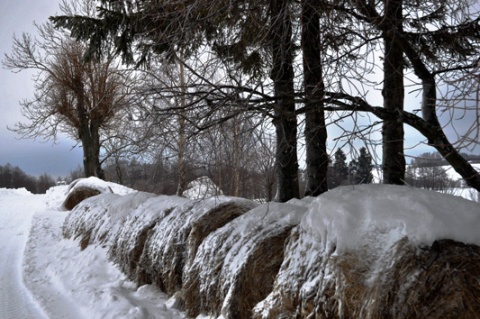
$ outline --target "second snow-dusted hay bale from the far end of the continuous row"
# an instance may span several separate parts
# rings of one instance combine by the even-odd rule
[[[145,243],[152,234],[152,229],[175,207],[189,202],[177,196],[157,196],[148,198],[140,207],[129,214],[121,227],[110,232],[112,243],[109,249],[110,259],[137,284],[149,283],[142,276],[143,268],[139,265]]]

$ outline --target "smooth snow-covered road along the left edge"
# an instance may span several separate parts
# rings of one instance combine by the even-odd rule
[[[12,200],[18,197],[21,200]],[[0,196],[0,319],[45,318],[25,287],[22,262],[33,213],[43,196]]]

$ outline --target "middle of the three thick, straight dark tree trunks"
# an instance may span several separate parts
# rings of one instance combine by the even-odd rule
[[[305,196],[317,196],[328,190],[327,128],[323,109],[323,70],[321,62],[320,17],[316,0],[304,0],[302,6],[302,48],[305,89],[305,141],[307,185]]]

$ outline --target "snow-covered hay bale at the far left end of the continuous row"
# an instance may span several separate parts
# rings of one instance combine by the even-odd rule
[[[65,238],[80,238],[82,249],[90,243],[107,244],[109,233],[116,233],[128,214],[153,196],[136,192],[124,196],[105,193],[88,198],[68,214],[63,235]]]

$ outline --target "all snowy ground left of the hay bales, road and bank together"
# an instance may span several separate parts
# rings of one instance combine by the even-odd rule
[[[0,189],[0,319],[183,318],[158,289],[128,281],[104,248],[62,238],[67,188]]]

